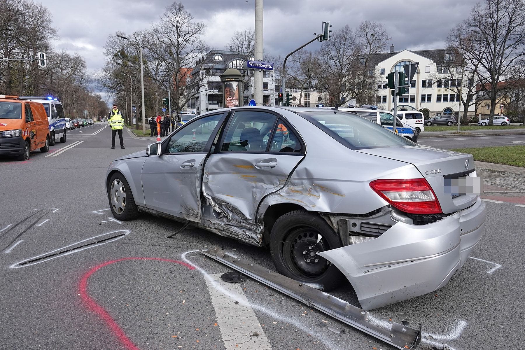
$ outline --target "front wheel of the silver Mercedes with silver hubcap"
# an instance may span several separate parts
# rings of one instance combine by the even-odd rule
[[[121,221],[134,220],[139,215],[131,188],[121,173],[114,173],[108,184],[109,207],[113,216]]]

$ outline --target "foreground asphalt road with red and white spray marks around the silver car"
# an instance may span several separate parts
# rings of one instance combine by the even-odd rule
[[[253,280],[226,285],[218,274],[229,270],[195,252],[224,246],[273,269],[267,249],[192,227],[167,239],[181,224],[151,215],[113,220],[106,169],[152,139],[124,131],[126,149],[110,150],[110,129],[96,133],[103,125],[71,131],[27,162],[0,158],[0,348],[392,348]],[[522,348],[525,208],[486,204],[485,235],[460,273],[371,319],[421,323],[426,346]],[[348,284],[334,294],[357,304]]]

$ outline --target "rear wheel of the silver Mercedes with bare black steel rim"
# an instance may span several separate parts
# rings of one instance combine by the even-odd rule
[[[341,239],[326,221],[304,210],[281,216],[271,229],[270,252],[277,271],[320,290],[337,288],[344,277],[316,253],[341,246]]]

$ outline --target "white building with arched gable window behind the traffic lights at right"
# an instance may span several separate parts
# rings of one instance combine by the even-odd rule
[[[386,77],[393,71],[404,71],[403,65],[407,63],[419,62],[414,79],[408,93],[398,97],[397,110],[410,111],[427,108],[430,116],[458,114],[459,96],[455,91],[447,87],[461,86],[461,84],[473,84],[474,82],[464,79],[450,79],[450,74],[445,68],[444,63],[454,55],[446,49],[438,50],[403,50],[394,52],[394,47],[390,47],[391,52],[383,52],[372,56],[371,67],[375,68],[376,75],[383,79],[377,84],[377,104],[386,110],[393,110],[394,97],[391,89],[386,87]],[[446,65],[450,66],[450,65]],[[457,76],[461,77],[460,68],[457,68]],[[466,92],[463,91],[465,98]],[[469,114],[475,114],[475,106],[471,105],[468,109]],[[463,105],[461,105],[463,113]]]

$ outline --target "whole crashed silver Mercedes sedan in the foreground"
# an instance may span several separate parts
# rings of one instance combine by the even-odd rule
[[[471,155],[354,113],[222,109],[160,145],[111,163],[114,217],[144,211],[269,245],[280,273],[324,290],[346,277],[364,309],[443,287],[482,235],[484,202],[445,185],[476,177]]]

